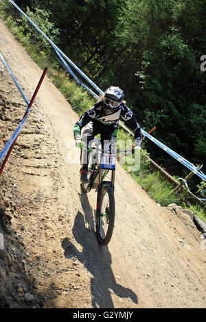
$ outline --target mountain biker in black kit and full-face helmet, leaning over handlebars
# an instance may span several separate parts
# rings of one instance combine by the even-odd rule
[[[101,135],[102,149],[104,140],[115,143],[117,140],[117,127],[120,117],[130,129],[134,131],[135,145],[141,144],[141,129],[135,115],[126,106],[124,92],[119,87],[111,86],[106,89],[100,101],[95,103],[87,112],[84,112],[73,128],[73,136],[76,140],[76,147],[81,149],[80,180],[87,184],[88,174],[88,143],[95,138],[97,134]],[[81,139],[81,129],[86,125],[90,125],[84,130]],[[82,151],[83,150],[83,151]]]

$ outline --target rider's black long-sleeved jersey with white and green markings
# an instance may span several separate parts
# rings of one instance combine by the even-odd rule
[[[96,123],[96,125],[101,123],[105,128],[108,127],[110,130],[114,129],[114,132],[116,133],[117,131],[115,130],[119,125],[119,119],[122,119],[127,127],[135,130],[135,138],[141,136],[141,129],[137,123],[135,115],[126,106],[126,104],[120,104],[119,108],[111,114],[106,114],[103,104],[104,103],[102,101],[99,101],[98,103],[95,103],[87,112],[82,114],[73,129],[74,138],[79,137],[82,127],[91,121]],[[114,134],[114,136],[115,135],[116,134]]]

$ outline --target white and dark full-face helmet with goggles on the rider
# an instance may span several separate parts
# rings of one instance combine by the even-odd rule
[[[119,87],[111,86],[104,92],[104,108],[108,112],[115,112],[124,99],[124,92]]]

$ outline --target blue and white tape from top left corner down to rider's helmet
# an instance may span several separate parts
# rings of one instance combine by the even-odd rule
[[[45,39],[47,39],[47,41],[65,58],[65,60],[67,60],[67,62],[69,62],[69,64],[71,64],[71,66],[73,66],[79,73],[80,75],[82,75],[82,77],[84,77],[85,79],[87,79],[87,82],[89,82],[89,84],[91,84],[93,86],[93,88],[95,88],[95,90],[98,90],[98,92],[100,94],[103,94],[104,92],[102,92],[102,90],[100,90],[100,88],[98,88],[98,86],[96,86],[91,79],[89,79],[89,77],[87,77],[87,75],[85,75],[79,68],[78,66],[76,66],[76,64],[74,64],[66,55],[65,53],[63,53],[55,44],[54,42],[52,42],[52,40],[50,40],[42,31],[41,29],[39,29],[35,23],[33,23],[33,21],[18,7],[18,5],[16,5],[16,3],[14,3],[14,1],[10,0],[10,3],[12,3],[12,5],[14,5],[14,7],[16,7],[17,10],[19,10],[19,12],[21,12],[21,14],[23,14],[23,16],[25,16],[25,18],[27,18],[28,21],[30,21],[30,23],[32,23],[32,25],[38,30],[38,32],[40,32]]]

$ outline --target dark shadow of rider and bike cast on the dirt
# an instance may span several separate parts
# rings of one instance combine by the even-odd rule
[[[84,200],[85,201],[85,200]],[[87,202],[89,203],[88,199]],[[86,207],[87,206],[87,207]],[[82,251],[78,251],[76,247],[65,238],[62,241],[62,248],[65,250],[65,257],[69,258],[69,253],[75,253],[78,260],[87,267],[88,271],[93,275],[91,278],[91,295],[93,308],[113,308],[112,295],[117,295],[119,301],[122,298],[130,298],[134,303],[138,303],[137,295],[125,288],[115,281],[115,276],[111,269],[111,254],[107,246],[100,246],[95,235],[94,221],[90,205],[85,205],[84,208],[87,213],[87,222],[89,221],[89,228],[85,227],[85,219],[81,212],[76,214],[76,219],[73,224],[73,236],[76,242],[82,246]],[[86,215],[85,215],[86,216]],[[92,227],[92,228],[91,228]],[[70,257],[71,258],[71,257]]]

